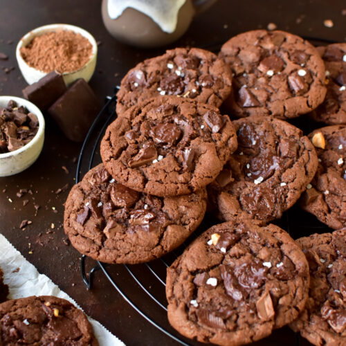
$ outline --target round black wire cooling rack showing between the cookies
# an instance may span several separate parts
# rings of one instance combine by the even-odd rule
[[[330,44],[334,43],[329,39],[318,39],[315,37],[305,37],[309,39],[313,44]],[[217,51],[221,44],[213,43],[203,46],[201,48],[207,48],[210,51]],[[114,91],[116,93],[116,90]],[[100,158],[100,141],[104,135],[104,131],[107,126],[116,119],[116,95],[113,97],[107,97],[104,107],[95,118],[93,125],[89,129],[88,134],[82,145],[80,156],[78,158],[77,172],[75,176],[75,182],[78,183],[80,178],[88,172],[91,167],[98,165],[101,162]],[[309,118],[302,116],[291,121],[293,125],[299,127],[304,131],[304,134],[309,134],[313,129],[319,126],[316,123],[311,122]],[[158,260],[136,265],[109,265],[96,261],[96,265],[86,273],[86,256],[83,255],[81,259],[81,272],[84,283],[88,289],[91,289],[93,283],[93,273],[101,270],[113,287],[118,291],[123,299],[133,307],[137,313],[140,314],[145,320],[154,325],[163,334],[169,336],[177,343],[181,345],[197,345],[193,340],[189,340],[181,336],[177,331],[170,327],[167,321],[167,300],[165,298],[165,275],[166,269],[172,262],[178,257],[183,250],[200,235],[204,230],[210,228],[210,226],[217,224],[216,217],[212,215],[206,215],[199,228],[182,244],[179,248],[172,253],[169,253]],[[303,210],[300,210],[298,206],[293,206],[287,212],[284,212],[282,218],[274,222],[277,226],[280,226],[289,234],[293,239],[311,235],[312,233],[325,233],[330,232],[330,228],[320,223],[316,217],[310,215]],[[116,267],[116,271],[112,270]],[[115,273],[116,272],[116,273]],[[124,277],[127,277],[126,288],[124,288]],[[129,281],[128,281],[129,280]],[[134,289],[129,290],[128,282],[132,282]],[[151,289],[152,286],[156,286],[155,293]],[[154,309],[148,309],[148,304]],[[150,310],[150,311],[149,311]],[[154,312],[153,312],[154,311]],[[266,339],[266,345],[277,345],[274,340]],[[295,335],[295,345],[300,345],[299,334]]]

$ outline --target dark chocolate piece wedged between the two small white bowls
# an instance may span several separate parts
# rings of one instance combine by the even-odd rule
[[[42,111],[48,109],[66,91],[62,75],[52,71],[38,82],[23,89],[24,98],[33,102]]]

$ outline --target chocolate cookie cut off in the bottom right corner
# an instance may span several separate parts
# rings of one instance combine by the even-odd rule
[[[313,345],[346,345],[346,228],[297,240],[310,268],[309,298],[294,331]]]

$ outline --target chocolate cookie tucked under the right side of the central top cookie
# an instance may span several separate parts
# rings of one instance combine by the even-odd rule
[[[316,151],[302,131],[271,117],[233,122],[238,149],[210,185],[221,217],[265,222],[291,208],[316,173]]]

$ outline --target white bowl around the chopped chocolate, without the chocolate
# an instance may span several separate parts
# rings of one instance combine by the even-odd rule
[[[24,147],[0,154],[0,176],[10,176],[26,170],[39,157],[44,144],[44,116],[41,111],[35,104],[15,96],[0,96],[0,107],[6,107],[10,100],[17,102],[18,107],[24,106],[34,113],[39,120],[39,129],[35,137]]]

